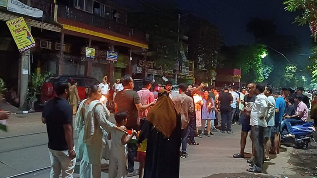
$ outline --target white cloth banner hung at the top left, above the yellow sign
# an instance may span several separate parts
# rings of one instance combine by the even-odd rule
[[[23,14],[31,17],[41,18],[43,17],[43,11],[32,8],[18,0],[8,0],[7,10],[18,14]]]

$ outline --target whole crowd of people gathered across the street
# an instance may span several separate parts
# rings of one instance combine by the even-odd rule
[[[57,97],[46,103],[42,113],[49,135],[52,178],[60,173],[62,177],[72,177],[76,159],[81,160],[80,177],[101,177],[102,158],[109,160],[110,178],[175,178],[179,176],[180,157],[189,156],[188,140],[189,145],[197,146],[195,137],[211,137],[218,130],[232,134],[231,125],[235,124],[241,125],[241,148],[233,157],[245,157],[250,132],[252,158],[248,162],[252,167],[247,171],[260,173],[263,162],[270,159],[269,154],[279,153],[281,132],[287,130],[285,137],[294,137],[291,126],[306,122],[308,117],[309,99],[306,102],[302,88],[291,94],[289,90],[255,83],[240,91],[236,86],[218,89],[208,88],[204,83],[179,84],[179,93],[175,94],[171,81],[162,87],[145,78],[143,88],[136,92],[132,77],[125,75],[112,86],[116,89],[113,124],[102,99],[109,91],[107,78],[100,85],[87,87],[87,99],[81,101],[76,111],[67,100],[73,95],[71,105],[76,102],[72,86],[66,81],[57,83]],[[311,104],[312,112],[316,112],[317,99]],[[74,112],[74,128],[79,136],[76,146],[72,130]],[[138,170],[134,169],[136,160]]]

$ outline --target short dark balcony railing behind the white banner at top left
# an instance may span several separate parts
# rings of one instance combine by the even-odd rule
[[[20,0],[21,3],[29,5],[33,8],[37,8],[43,11],[42,19],[44,21],[52,22],[54,20],[54,8],[55,4],[53,1],[49,0],[30,0],[30,4],[27,3],[28,0]]]

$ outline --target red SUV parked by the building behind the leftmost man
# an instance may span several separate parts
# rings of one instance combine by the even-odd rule
[[[55,92],[54,92],[54,88],[53,88],[55,82],[64,81],[64,80],[67,80],[69,82],[71,82],[72,80],[75,80],[78,82],[77,89],[78,89],[78,95],[79,95],[80,100],[85,99],[86,86],[98,85],[100,83],[94,77],[86,77],[86,76],[78,76],[78,75],[60,75],[60,76],[48,77],[45,79],[45,82],[42,85],[42,92],[41,92],[41,96],[40,96],[38,105],[43,106],[46,101],[53,98],[55,96]],[[113,90],[109,91],[107,108],[109,110],[114,109]]]

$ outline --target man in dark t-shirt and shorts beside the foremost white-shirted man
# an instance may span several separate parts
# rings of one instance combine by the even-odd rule
[[[244,158],[244,148],[245,144],[247,143],[248,132],[251,130],[250,125],[250,118],[251,118],[251,111],[253,105],[256,100],[256,84],[249,83],[247,86],[248,94],[244,96],[243,102],[243,120],[242,120],[242,128],[241,128],[241,139],[240,139],[240,153],[234,154],[234,158]],[[252,155],[253,155],[253,147],[252,147]]]

